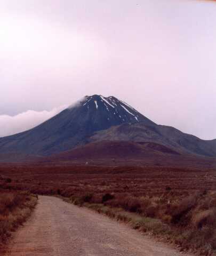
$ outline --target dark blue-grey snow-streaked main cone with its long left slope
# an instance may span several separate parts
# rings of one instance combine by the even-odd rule
[[[115,97],[86,96],[34,129],[0,138],[0,150],[4,154],[50,155],[85,144],[94,132],[139,122],[156,125]]]

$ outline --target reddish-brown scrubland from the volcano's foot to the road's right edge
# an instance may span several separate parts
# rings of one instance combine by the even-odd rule
[[[216,252],[216,172],[141,166],[1,165],[2,189],[55,195],[181,251]]]

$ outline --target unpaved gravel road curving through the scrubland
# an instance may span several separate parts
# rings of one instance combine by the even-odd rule
[[[41,196],[31,218],[14,233],[6,256],[179,256],[123,223]]]

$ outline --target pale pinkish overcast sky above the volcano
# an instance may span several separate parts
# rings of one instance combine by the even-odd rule
[[[215,139],[215,24],[214,1],[0,0],[0,137],[102,94]]]

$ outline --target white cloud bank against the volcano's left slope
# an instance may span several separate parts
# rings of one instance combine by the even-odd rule
[[[53,108],[51,111],[28,110],[16,116],[0,115],[0,137],[29,130],[57,115],[66,107]]]

